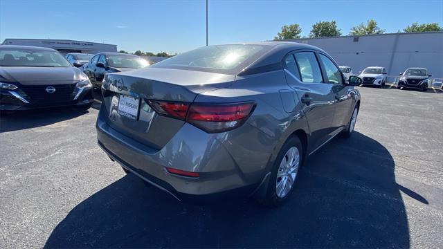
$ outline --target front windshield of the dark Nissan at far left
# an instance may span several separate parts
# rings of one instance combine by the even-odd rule
[[[33,49],[0,49],[0,66],[65,67],[71,64],[60,53]]]

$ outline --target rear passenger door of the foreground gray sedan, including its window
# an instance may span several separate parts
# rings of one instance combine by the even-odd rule
[[[295,63],[291,63],[292,61]],[[309,151],[313,151],[332,132],[335,101],[332,85],[325,84],[314,51],[303,50],[287,55],[285,64],[287,82],[296,91],[307,117],[311,132]]]

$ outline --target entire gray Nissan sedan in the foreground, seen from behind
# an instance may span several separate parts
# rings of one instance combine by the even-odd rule
[[[280,205],[303,160],[360,106],[325,51],[293,42],[206,46],[102,84],[98,144],[179,200],[248,194]]]

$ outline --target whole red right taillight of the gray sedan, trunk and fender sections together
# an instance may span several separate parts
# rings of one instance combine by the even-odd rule
[[[186,120],[208,133],[229,131],[241,126],[255,107],[253,102],[190,104],[188,102],[147,100],[147,103],[162,116]]]

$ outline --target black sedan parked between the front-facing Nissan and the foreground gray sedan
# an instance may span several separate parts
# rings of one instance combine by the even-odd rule
[[[137,55],[129,55],[124,53],[98,53],[92,57],[91,61],[86,64],[84,73],[86,73],[93,84],[93,87],[100,88],[102,86],[103,77],[107,73],[118,73],[129,71],[136,68],[144,68],[149,66],[147,60]]]

